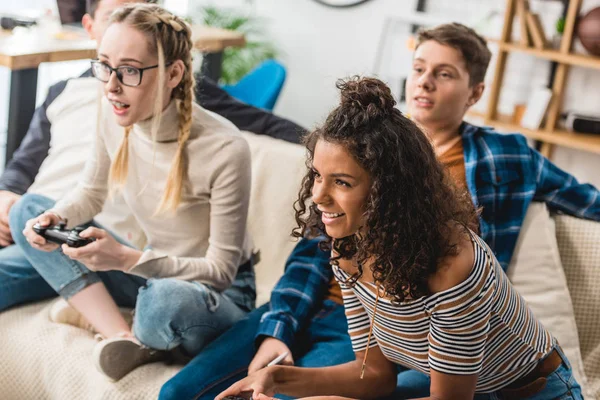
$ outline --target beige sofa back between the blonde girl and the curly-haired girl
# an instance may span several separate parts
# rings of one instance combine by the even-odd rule
[[[248,229],[260,250],[256,271],[256,305],[269,300],[295,246],[293,204],[306,172],[304,146],[243,132],[252,154],[252,192]]]

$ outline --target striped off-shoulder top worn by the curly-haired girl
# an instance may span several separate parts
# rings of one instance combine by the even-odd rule
[[[553,338],[513,289],[491,250],[472,235],[475,262],[467,279],[431,296],[394,305],[380,297],[370,346],[390,361],[430,373],[478,374],[478,393],[499,390],[525,376],[552,349]],[[355,352],[367,347],[377,297],[372,283],[340,282]]]

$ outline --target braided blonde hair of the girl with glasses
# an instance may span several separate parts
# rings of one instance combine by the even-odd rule
[[[157,213],[174,211],[181,203],[183,191],[187,182],[188,157],[186,142],[190,137],[192,126],[192,102],[194,99],[194,75],[192,72],[192,32],[187,23],[164,8],[154,4],[129,4],[116,10],[110,18],[110,23],[125,23],[134,29],[146,34],[152,51],[158,54],[158,84],[154,117],[152,123],[152,136],[155,139],[163,104],[163,85],[165,78],[165,64],[175,60],[182,60],[185,66],[183,78],[179,85],[173,89],[172,98],[177,101],[179,114],[179,144],[177,153],[171,164],[165,192],[157,208]],[[125,128],[125,135],[117,155],[110,168],[111,185],[122,186],[127,179],[127,166],[129,155],[129,133],[131,127]]]

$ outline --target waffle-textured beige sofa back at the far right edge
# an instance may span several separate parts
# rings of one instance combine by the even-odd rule
[[[588,387],[600,398],[600,223],[557,215],[556,237],[565,268]],[[592,397],[588,395],[588,398]]]

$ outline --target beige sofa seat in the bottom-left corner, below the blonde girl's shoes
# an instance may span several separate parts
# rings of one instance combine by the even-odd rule
[[[49,301],[0,313],[0,399],[145,400],[179,367],[144,365],[112,383],[96,371],[91,333],[48,320]]]

